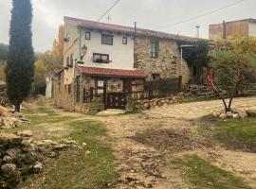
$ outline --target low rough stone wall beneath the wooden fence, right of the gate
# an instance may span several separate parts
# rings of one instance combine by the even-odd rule
[[[156,107],[162,107],[165,105],[173,105],[182,103],[182,96],[170,96],[166,98],[155,98],[152,100],[144,99],[137,100],[135,102],[135,108],[137,110],[149,110]]]

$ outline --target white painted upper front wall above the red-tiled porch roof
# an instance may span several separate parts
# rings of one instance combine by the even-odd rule
[[[85,31],[82,31],[82,45],[88,47],[87,54],[83,61],[85,66],[114,68],[114,69],[134,69],[134,40],[132,36],[125,34],[113,34],[113,45],[101,44],[101,32],[97,30],[91,31],[90,41],[85,40]],[[122,37],[127,37],[127,44],[122,44]],[[109,63],[93,62],[93,53],[108,54]]]

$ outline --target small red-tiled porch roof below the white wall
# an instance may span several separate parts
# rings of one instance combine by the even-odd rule
[[[101,77],[147,77],[147,75],[139,70],[121,70],[110,68],[86,67],[77,64],[78,70],[85,75],[101,76]]]

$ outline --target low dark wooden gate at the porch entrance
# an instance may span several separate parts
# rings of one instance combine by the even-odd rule
[[[125,109],[126,106],[126,94],[125,93],[108,93],[106,99],[107,109]]]

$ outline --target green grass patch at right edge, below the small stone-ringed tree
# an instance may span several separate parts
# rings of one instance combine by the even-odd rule
[[[200,131],[225,146],[256,152],[256,119],[215,120],[204,124]]]

